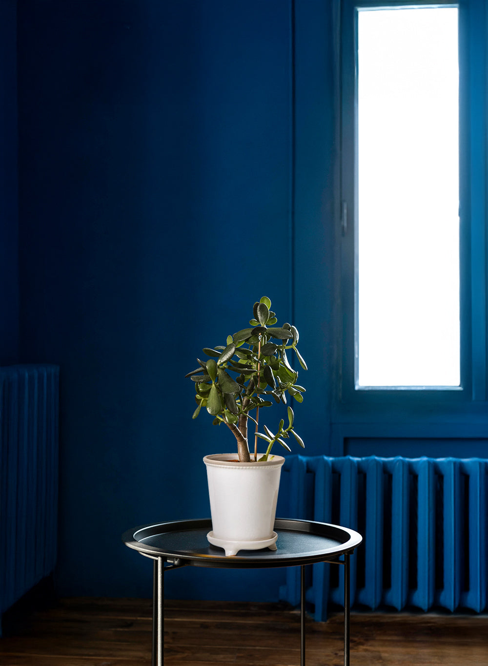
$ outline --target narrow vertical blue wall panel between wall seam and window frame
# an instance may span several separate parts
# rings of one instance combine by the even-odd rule
[[[294,314],[310,370],[297,410],[307,455],[328,453],[334,386],[334,238],[338,205],[338,44],[335,2],[296,3]]]

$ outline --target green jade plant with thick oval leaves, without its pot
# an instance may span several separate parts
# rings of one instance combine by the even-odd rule
[[[260,410],[270,407],[273,401],[286,404],[286,394],[296,402],[302,402],[303,386],[297,384],[298,372],[292,368],[286,352],[293,350],[300,366],[306,363],[296,348],[298,330],[288,323],[277,328],[271,301],[263,296],[254,303],[250,328],[228,336],[225,346],[204,348],[210,357],[198,361],[198,368],[188,372],[196,388],[196,418],[206,408],[214,417],[214,425],[225,424],[237,440],[239,462],[252,462],[248,445],[248,420],[255,424],[254,462],[258,460],[258,438],[267,443],[266,453],[259,460],[268,460],[272,446],[278,442],[291,451],[285,440],[290,434],[304,446],[302,438],[294,430],[294,412],[288,406],[288,426],[280,420],[276,434],[268,426],[259,432]],[[233,376],[232,376],[233,375]],[[256,410],[255,417],[250,412]]]

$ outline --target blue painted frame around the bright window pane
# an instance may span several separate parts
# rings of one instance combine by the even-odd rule
[[[358,8],[457,7],[459,10],[459,225],[461,386],[356,387],[356,294],[358,293],[356,142]],[[340,203],[340,320],[334,422],[405,418],[465,418],[486,410],[486,9],[483,0],[452,3],[342,0]],[[474,63],[474,64],[473,64]],[[354,352],[354,353],[353,353]]]

